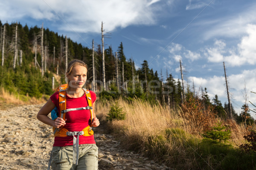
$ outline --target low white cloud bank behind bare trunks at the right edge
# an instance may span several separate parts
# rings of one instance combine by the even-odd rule
[[[207,92],[210,96],[210,99],[213,99],[215,94],[218,95],[219,99],[221,100],[222,104],[227,102],[227,94],[226,94],[226,84],[225,84],[225,77],[188,77],[189,82],[194,81],[195,91],[200,91],[201,88],[207,88]],[[256,92],[255,82],[256,82],[256,69],[254,70],[244,70],[241,71],[239,74],[232,74],[228,77],[229,82],[229,91],[232,94],[232,101],[233,106],[236,107],[236,111],[241,110],[241,106],[244,104],[244,81],[246,83],[246,89],[249,91],[248,99],[249,101],[256,104],[256,94],[250,93],[250,91]],[[250,108],[254,108],[252,105],[249,104]]]

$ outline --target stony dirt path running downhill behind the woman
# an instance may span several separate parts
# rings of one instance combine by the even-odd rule
[[[36,119],[42,105],[0,111],[0,170],[46,170],[52,150],[52,128]],[[127,150],[102,127],[94,128],[99,170],[169,170]]]

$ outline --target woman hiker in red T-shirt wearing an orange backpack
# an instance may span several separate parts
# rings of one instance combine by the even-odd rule
[[[67,88],[50,96],[37,115],[38,120],[52,126],[55,133],[49,164],[52,170],[97,170],[98,147],[91,130],[91,127],[99,126],[99,119],[93,112],[96,94],[82,88],[87,79],[87,65],[81,60],[72,60],[66,77]],[[55,107],[58,114],[64,116],[59,114],[52,120],[48,114]]]

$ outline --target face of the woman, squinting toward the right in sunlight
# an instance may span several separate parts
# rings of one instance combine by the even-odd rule
[[[82,65],[75,65],[67,78],[70,80],[71,88],[82,88],[87,79],[87,68]]]

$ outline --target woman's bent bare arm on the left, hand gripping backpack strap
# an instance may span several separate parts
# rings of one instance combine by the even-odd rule
[[[58,117],[57,119],[52,120],[48,117],[48,114],[55,108],[55,104],[52,102],[51,99],[49,99],[46,104],[40,109],[37,115],[37,119],[40,120],[41,122],[50,125],[52,127],[59,128],[63,125],[65,125],[65,121]]]

